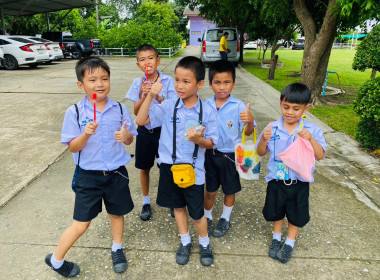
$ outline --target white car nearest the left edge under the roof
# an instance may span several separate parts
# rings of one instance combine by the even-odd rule
[[[15,70],[20,65],[37,67],[50,60],[44,44],[35,43],[23,36],[0,35],[0,48],[4,53],[3,66],[7,70]]]

